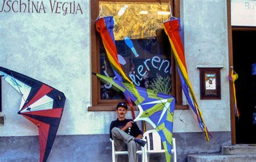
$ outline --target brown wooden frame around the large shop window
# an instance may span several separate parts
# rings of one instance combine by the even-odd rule
[[[99,39],[96,33],[95,19],[98,16],[99,1],[102,2],[148,2],[148,3],[171,3],[172,15],[180,17],[180,0],[91,0],[91,71],[99,73]],[[175,66],[174,57],[171,55],[171,65]],[[100,99],[100,81],[95,75],[91,76],[92,83],[92,106],[88,107],[89,111],[115,111],[118,102],[124,102],[122,99],[102,100]],[[177,68],[172,68],[172,95],[176,97],[176,109],[188,109],[188,105],[183,105],[181,83],[178,76]],[[130,108],[129,108],[130,109]]]

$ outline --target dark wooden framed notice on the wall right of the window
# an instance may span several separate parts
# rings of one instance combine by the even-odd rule
[[[200,72],[200,99],[221,99],[220,69],[198,68]]]

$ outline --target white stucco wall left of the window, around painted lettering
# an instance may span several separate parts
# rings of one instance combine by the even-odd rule
[[[28,1],[22,2],[28,6]],[[69,11],[65,16],[62,4],[71,2],[73,12],[74,1],[57,1],[62,2],[57,10],[60,14],[51,13],[49,0],[38,2],[43,2],[45,13],[31,13],[31,4],[30,13],[28,8],[25,13],[0,12],[0,66],[64,92],[66,103],[58,134],[97,133],[92,130],[97,128],[92,126],[96,114],[87,113],[91,103],[90,1],[75,1],[75,9],[79,3],[83,14]],[[0,11],[2,4],[3,1]],[[15,10],[19,8],[16,5]],[[3,80],[0,114],[5,114],[6,121],[0,126],[0,136],[38,134],[35,125],[17,114],[20,102],[21,95]]]

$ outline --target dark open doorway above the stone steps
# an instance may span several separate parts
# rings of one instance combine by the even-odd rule
[[[256,144],[256,31],[233,31],[233,66],[240,118],[235,119],[237,144]]]

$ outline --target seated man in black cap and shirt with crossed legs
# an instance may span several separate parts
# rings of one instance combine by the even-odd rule
[[[138,161],[136,151],[138,146],[145,146],[146,141],[142,139],[142,131],[132,119],[125,119],[127,113],[125,103],[117,104],[117,120],[110,124],[110,138],[114,140],[114,146],[117,151],[128,150],[129,162]],[[139,145],[138,145],[139,144]]]

